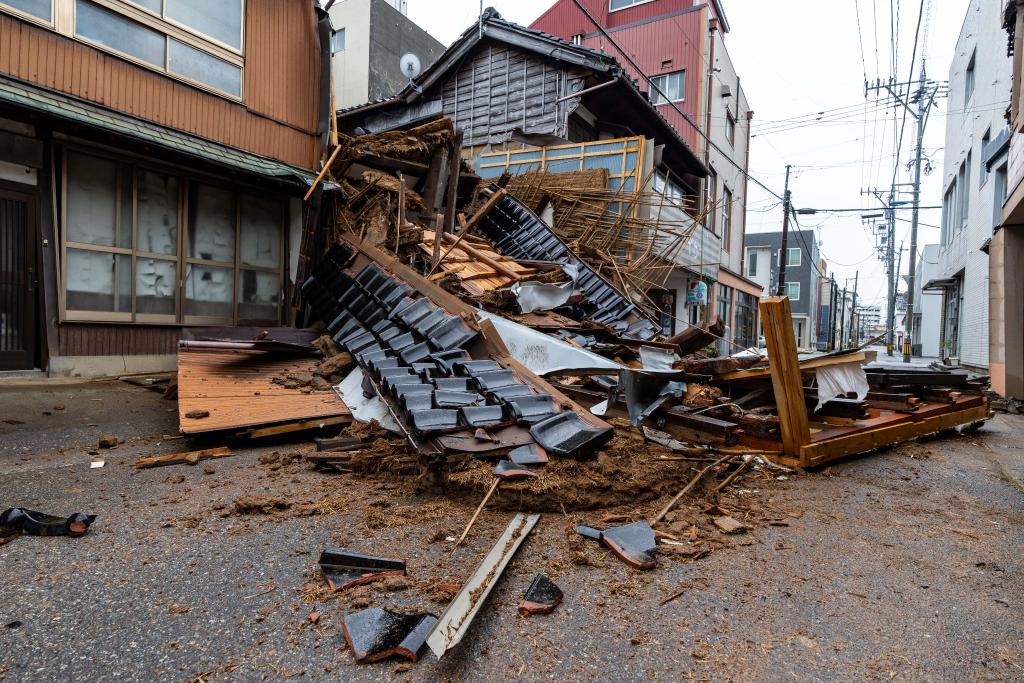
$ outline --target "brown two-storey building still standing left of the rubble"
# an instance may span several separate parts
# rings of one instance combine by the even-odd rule
[[[328,39],[314,0],[0,0],[0,371],[285,322]]]

